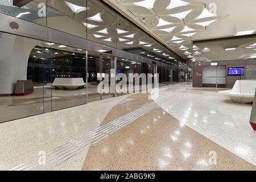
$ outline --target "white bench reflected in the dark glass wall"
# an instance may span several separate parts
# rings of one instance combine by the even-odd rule
[[[84,88],[85,82],[82,78],[55,78],[52,86],[55,89],[76,90]]]

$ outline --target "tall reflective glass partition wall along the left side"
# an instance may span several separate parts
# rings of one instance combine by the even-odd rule
[[[39,4],[47,10],[42,16],[36,14]],[[1,13],[100,43],[100,48],[93,52],[68,43],[43,42],[0,32],[0,122],[127,94],[129,73],[133,77],[150,73],[153,78],[158,68],[159,81],[168,82],[168,69],[153,62],[176,65],[178,59],[101,1],[42,0],[19,8],[13,6],[13,1],[3,0]],[[108,47],[103,50],[101,46]],[[146,57],[152,64],[114,57],[109,51],[112,48]],[[114,80],[114,85],[122,81],[121,78],[115,82],[121,73],[127,80],[120,86],[123,92],[115,94],[111,81]],[[131,89],[141,90],[142,84],[140,79],[139,88],[133,84]]]

